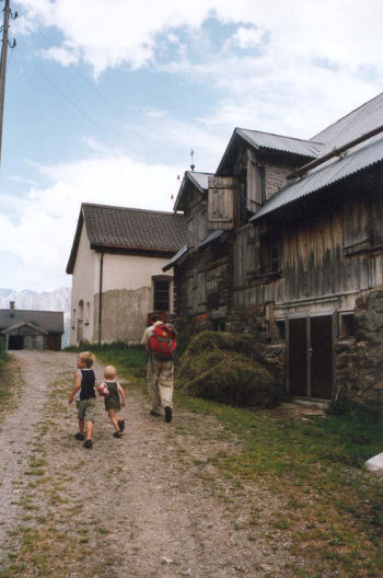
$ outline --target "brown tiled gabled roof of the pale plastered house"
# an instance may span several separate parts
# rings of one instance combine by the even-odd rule
[[[83,203],[67,266],[69,274],[73,273],[83,223],[91,248],[104,252],[170,256],[186,240],[183,215]]]

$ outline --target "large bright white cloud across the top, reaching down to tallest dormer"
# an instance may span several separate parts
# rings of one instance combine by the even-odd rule
[[[150,66],[216,91],[204,123],[220,135],[243,125],[309,137],[382,90],[380,0],[115,0],[108,11],[104,0],[19,3],[27,28],[61,32],[45,56],[65,66],[83,61],[95,74]],[[220,50],[201,31],[208,16],[237,26]]]

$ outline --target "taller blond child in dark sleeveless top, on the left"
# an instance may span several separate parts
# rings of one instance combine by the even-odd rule
[[[90,450],[93,446],[93,423],[95,417],[96,401],[95,401],[95,374],[92,369],[95,356],[90,351],[82,351],[79,354],[77,360],[78,372],[76,373],[74,386],[69,396],[69,403],[72,403],[74,396],[77,397],[77,407],[79,412],[79,432],[74,435],[78,440],[84,440],[84,428],[86,439],[84,448]],[[78,394],[78,395],[77,395]]]

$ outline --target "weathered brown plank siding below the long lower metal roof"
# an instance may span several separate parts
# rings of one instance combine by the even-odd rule
[[[235,232],[234,305],[293,304],[383,284],[383,205],[330,207],[316,220],[280,226],[281,274],[262,270],[263,227]]]

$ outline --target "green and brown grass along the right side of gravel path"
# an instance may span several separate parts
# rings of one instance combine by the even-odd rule
[[[131,388],[144,389],[142,349],[95,352]],[[280,409],[235,408],[177,391],[175,406],[216,416],[227,436],[241,440],[237,452],[214,459],[222,476],[283,497],[283,511],[265,531],[286,532],[292,554],[311,560],[312,571],[291,568],[292,576],[383,575],[383,486],[362,469],[382,451],[382,423],[358,413],[292,418]]]

